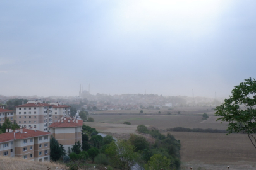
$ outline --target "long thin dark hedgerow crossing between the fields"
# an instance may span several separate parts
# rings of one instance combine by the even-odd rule
[[[202,133],[228,133],[226,130],[219,130],[219,129],[202,129],[202,128],[183,128],[183,127],[176,127],[176,128],[167,128],[167,131],[173,132],[202,132]]]

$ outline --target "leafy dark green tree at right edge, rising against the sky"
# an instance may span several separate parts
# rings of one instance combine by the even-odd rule
[[[256,148],[256,80],[245,79],[231,91],[229,99],[216,107],[217,120],[228,122],[228,134],[246,133]],[[227,134],[227,135],[228,135]]]

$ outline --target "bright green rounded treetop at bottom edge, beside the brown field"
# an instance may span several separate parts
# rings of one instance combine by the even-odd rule
[[[154,154],[150,157],[148,165],[145,165],[145,169],[159,170],[159,169],[171,169],[171,160],[161,154]]]

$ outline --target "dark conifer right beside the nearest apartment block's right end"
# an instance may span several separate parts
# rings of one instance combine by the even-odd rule
[[[52,161],[56,162],[61,158],[63,153],[63,150],[61,150],[61,147],[59,147],[58,141],[51,136],[50,139],[50,158]]]

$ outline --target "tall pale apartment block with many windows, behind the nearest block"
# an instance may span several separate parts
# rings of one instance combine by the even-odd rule
[[[16,123],[21,127],[47,132],[52,123],[52,105],[37,100],[16,106]]]

